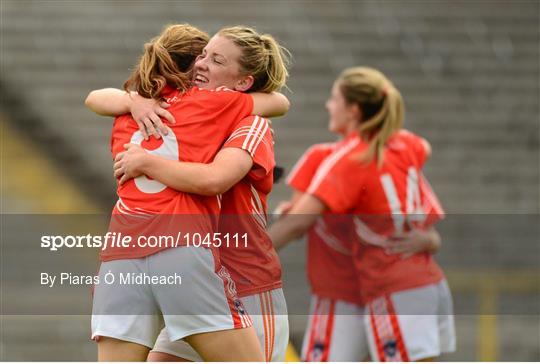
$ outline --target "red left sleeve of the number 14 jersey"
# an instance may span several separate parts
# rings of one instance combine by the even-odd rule
[[[359,139],[353,139],[326,157],[307,190],[332,213],[349,212],[360,200],[362,165],[350,154],[359,143]],[[351,175],[355,176],[355,183],[351,183]]]

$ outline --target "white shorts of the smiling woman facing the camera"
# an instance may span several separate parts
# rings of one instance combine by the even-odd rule
[[[281,288],[240,298],[250,313],[265,361],[285,361],[289,344],[287,304]],[[190,361],[202,361],[185,341],[171,341],[166,330],[161,331],[152,350]]]

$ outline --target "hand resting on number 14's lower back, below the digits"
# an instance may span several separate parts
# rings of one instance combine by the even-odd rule
[[[412,229],[401,235],[390,237],[385,245],[387,254],[401,254],[402,259],[407,259],[416,253],[434,253],[440,246],[440,237],[434,230]]]

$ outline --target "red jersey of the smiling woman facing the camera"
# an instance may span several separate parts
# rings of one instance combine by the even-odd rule
[[[242,120],[223,148],[240,148],[253,158],[244,179],[222,196],[219,232],[231,238],[222,244],[220,259],[236,283],[240,297],[280,288],[281,264],[266,233],[267,197],[275,167],[273,138],[268,121],[259,116]],[[232,237],[246,235],[239,246]]]

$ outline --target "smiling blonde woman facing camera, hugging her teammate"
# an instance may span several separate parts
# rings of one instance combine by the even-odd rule
[[[279,101],[281,95],[275,91],[285,86],[288,57],[288,52],[270,35],[260,35],[252,28],[241,26],[224,28],[210,39],[197,57],[192,72],[193,84],[198,89],[221,90],[225,86],[230,90],[250,92],[255,104],[266,99]],[[155,95],[146,93],[144,97],[155,98]],[[145,100],[141,93],[129,98],[116,90],[94,91],[87,104],[105,115],[132,110],[141,132],[157,137],[165,134],[160,117],[174,119],[167,104]],[[284,111],[272,106],[259,113],[270,116]],[[256,126],[254,132],[251,132],[252,124]],[[251,314],[264,360],[283,361],[288,344],[288,320],[281,289],[281,267],[272,243],[260,225],[260,216],[266,219],[266,199],[275,165],[272,135],[267,121],[259,117],[240,121],[236,130],[239,132],[233,132],[234,137],[229,138],[209,164],[166,160],[139,146],[127,145],[127,151],[116,157],[115,175],[121,184],[144,174],[178,191],[205,196],[223,194],[221,207],[229,221],[228,224],[220,221],[220,233],[248,231],[256,238],[250,239],[243,249],[220,249],[221,262],[228,268],[236,282],[238,296]],[[253,141],[248,143],[249,150],[243,146],[244,141]],[[253,211],[253,199],[260,204],[257,211]],[[237,216],[233,217],[232,230],[230,216]],[[164,329],[148,360],[201,361],[203,357],[187,342],[171,341]],[[221,348],[216,345],[215,351],[219,353]]]

